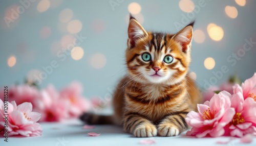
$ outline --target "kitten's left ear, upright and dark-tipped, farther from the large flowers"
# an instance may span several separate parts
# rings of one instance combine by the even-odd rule
[[[140,25],[140,23],[130,14],[130,21],[128,26],[128,45],[133,48],[136,41],[140,38],[146,37],[148,34]]]

